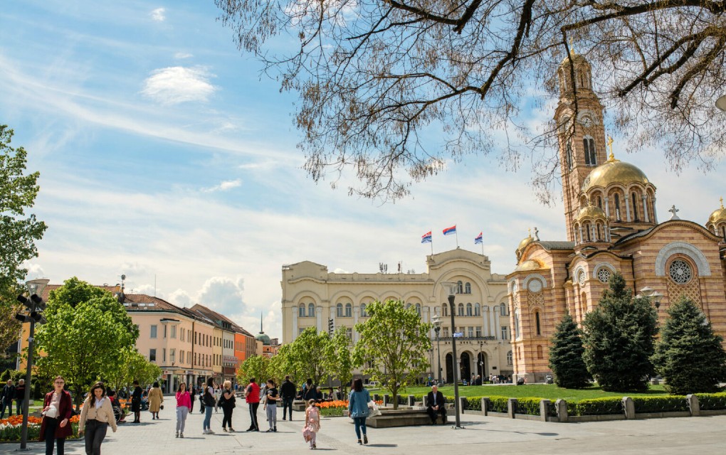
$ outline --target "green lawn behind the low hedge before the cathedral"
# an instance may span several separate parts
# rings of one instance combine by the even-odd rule
[[[409,387],[406,390],[399,390],[399,395],[424,395],[431,390],[428,387]],[[446,396],[454,396],[454,387],[446,385],[439,388]],[[373,389],[371,393],[383,395],[388,391]],[[562,398],[568,402],[575,402],[589,398],[603,398],[608,396],[652,396],[668,395],[662,385],[651,385],[646,393],[617,393],[605,392],[599,387],[586,389],[564,389],[556,385],[531,384],[531,385],[469,385],[459,388],[460,396],[505,396],[507,398],[537,397],[547,398],[552,401]]]

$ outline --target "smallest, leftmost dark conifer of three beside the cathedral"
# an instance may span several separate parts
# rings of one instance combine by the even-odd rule
[[[550,340],[550,369],[557,385],[572,389],[587,387],[591,377],[583,354],[582,330],[567,312]]]

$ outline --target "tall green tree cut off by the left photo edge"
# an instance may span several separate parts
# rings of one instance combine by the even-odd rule
[[[15,298],[23,292],[19,282],[27,269],[23,262],[36,258],[36,242],[43,237],[46,224],[25,211],[33,207],[40,186],[34,172],[25,175],[28,152],[10,145],[13,131],[0,125],[0,356],[20,334],[20,321],[15,313],[20,309]]]

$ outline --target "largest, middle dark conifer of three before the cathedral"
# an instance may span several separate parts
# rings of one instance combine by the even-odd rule
[[[632,298],[623,277],[613,274],[610,289],[583,326],[587,371],[603,390],[648,390],[658,319],[647,298]]]

